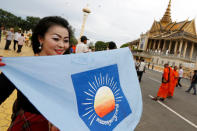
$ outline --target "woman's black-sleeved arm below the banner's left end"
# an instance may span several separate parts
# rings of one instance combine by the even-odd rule
[[[0,73],[0,105],[12,94],[15,86],[8,80],[8,78]]]

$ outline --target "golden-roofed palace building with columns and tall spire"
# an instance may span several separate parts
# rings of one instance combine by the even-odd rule
[[[132,41],[137,51],[132,51],[134,57],[144,57],[146,60],[163,65],[195,68],[197,62],[197,34],[195,20],[181,22],[171,19],[171,0],[162,19],[154,21],[150,30]],[[140,52],[139,52],[140,50]]]

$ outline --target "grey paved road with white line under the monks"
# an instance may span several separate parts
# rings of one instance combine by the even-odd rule
[[[176,88],[174,98],[164,102],[151,100],[160,86],[161,73],[147,71],[141,82],[143,114],[135,131],[197,131],[197,96],[186,93],[189,80]],[[161,104],[160,104],[161,103]],[[162,105],[163,104],[163,105]]]

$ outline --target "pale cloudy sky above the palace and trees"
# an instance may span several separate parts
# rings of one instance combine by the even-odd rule
[[[79,38],[83,12],[88,5],[85,32],[92,42],[114,41],[118,47],[140,37],[164,15],[169,0],[1,0],[0,8],[16,16],[62,16]],[[197,17],[197,0],[172,0],[172,21]],[[197,22],[196,22],[197,23]]]

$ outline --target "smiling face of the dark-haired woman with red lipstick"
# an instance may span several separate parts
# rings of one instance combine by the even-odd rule
[[[62,55],[69,48],[69,32],[66,28],[54,25],[48,29],[44,38],[39,37],[42,44],[40,55]]]

